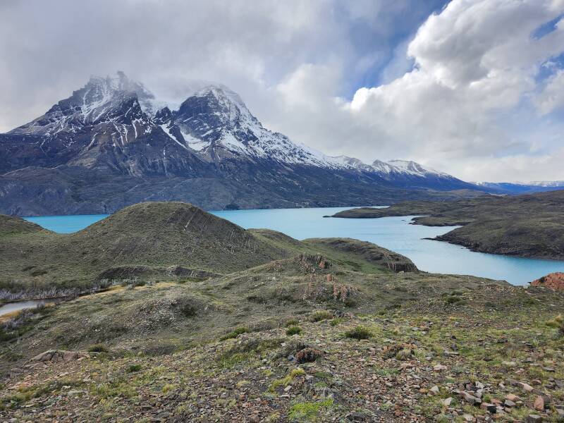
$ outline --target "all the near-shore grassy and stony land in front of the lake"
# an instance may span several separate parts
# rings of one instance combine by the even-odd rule
[[[0,216],[6,421],[558,422],[564,293],[428,274],[180,202],[63,235]],[[79,295],[82,294],[82,295]]]

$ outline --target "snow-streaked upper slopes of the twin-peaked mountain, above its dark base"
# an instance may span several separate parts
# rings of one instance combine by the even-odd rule
[[[38,136],[42,149],[51,148],[60,156],[64,156],[61,149],[72,146],[79,163],[94,161],[99,149],[114,149],[115,154],[123,156],[123,149],[130,143],[153,143],[156,147],[165,142],[166,149],[168,142],[170,147],[181,147],[177,154],[184,152],[208,163],[226,159],[275,161],[283,166],[360,172],[402,183],[424,178],[455,180],[415,161],[376,160],[365,164],[353,157],[328,157],[264,128],[240,96],[225,85],[194,81],[183,87],[183,92],[188,97],[180,104],[165,102],[123,72],[114,77],[93,76],[71,97],[10,134]],[[161,151],[162,160],[170,165],[165,151]]]

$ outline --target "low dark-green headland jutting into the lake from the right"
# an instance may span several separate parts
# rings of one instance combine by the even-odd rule
[[[384,216],[421,216],[414,219],[419,225],[462,225],[436,239],[474,251],[564,259],[563,190],[455,202],[410,201],[387,209],[345,210],[333,217],[372,219]]]

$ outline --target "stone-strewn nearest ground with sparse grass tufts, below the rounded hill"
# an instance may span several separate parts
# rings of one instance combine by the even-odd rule
[[[491,286],[483,294],[466,291],[367,315],[316,310],[272,329],[238,326],[182,348],[160,338],[145,351],[111,343],[91,345],[90,352],[48,351],[8,372],[0,416],[18,422],[563,421],[563,298],[541,288],[521,298],[512,292],[519,289]],[[120,295],[104,294],[116,302]],[[506,298],[503,311],[484,304],[487,297]],[[554,304],[541,306],[547,301]]]

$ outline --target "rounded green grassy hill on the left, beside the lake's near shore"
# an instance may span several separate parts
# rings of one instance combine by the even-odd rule
[[[300,243],[274,231],[245,231],[180,202],[136,204],[72,234],[0,216],[0,288],[37,296],[52,288],[78,292],[121,281],[200,279],[302,253],[323,252],[363,266],[354,251],[321,244]],[[382,269],[393,270],[386,260],[412,266],[405,257],[373,248],[384,252]]]

